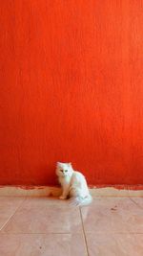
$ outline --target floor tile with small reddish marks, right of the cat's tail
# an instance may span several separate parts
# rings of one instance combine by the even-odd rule
[[[86,232],[143,232],[143,210],[130,198],[96,198],[81,212]]]

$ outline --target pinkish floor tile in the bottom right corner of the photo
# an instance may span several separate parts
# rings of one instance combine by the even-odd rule
[[[142,256],[143,234],[87,233],[90,256]]]

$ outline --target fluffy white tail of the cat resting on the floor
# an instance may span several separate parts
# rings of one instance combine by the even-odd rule
[[[71,200],[72,206],[84,206],[84,205],[88,205],[92,202],[92,196],[89,194],[85,198],[75,197],[75,198],[71,198],[70,200]]]

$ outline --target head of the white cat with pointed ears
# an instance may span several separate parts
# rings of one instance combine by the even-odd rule
[[[56,175],[58,176],[72,176],[73,169],[72,163],[56,163]]]

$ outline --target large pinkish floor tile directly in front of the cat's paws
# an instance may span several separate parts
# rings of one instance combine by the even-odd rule
[[[51,204],[47,198],[29,198],[10,219],[5,233],[71,233],[82,231],[78,207]]]

